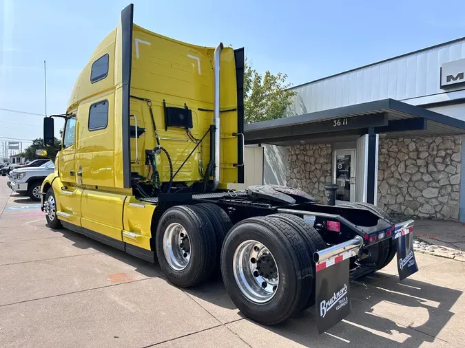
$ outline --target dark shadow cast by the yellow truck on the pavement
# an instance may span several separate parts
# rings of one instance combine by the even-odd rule
[[[165,278],[157,263],[147,263],[70,230],[55,231],[76,248],[92,248],[132,265],[145,276]],[[351,283],[351,314],[321,335],[316,329],[315,307],[271,327],[247,318],[237,321],[244,316],[229,298],[219,274],[203,285],[183,291],[200,305],[202,301],[213,305],[208,310],[212,316],[216,317],[221,309],[229,309],[235,319],[220,321],[230,322],[229,328],[252,346],[262,344],[262,340],[254,341],[260,335],[276,346],[289,345],[288,340],[292,340],[306,347],[325,348],[347,347],[348,343],[359,347],[420,347],[424,342],[462,346],[463,343],[448,341],[451,336],[459,340],[460,334],[454,336],[453,329],[445,328],[455,314],[452,307],[462,291],[414,279],[400,283],[397,275],[376,273]]]

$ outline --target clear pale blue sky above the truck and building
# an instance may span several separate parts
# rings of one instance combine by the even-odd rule
[[[129,0],[0,0],[0,109],[63,113]],[[245,47],[293,85],[465,36],[465,1],[134,0],[134,22],[174,39]],[[0,137],[41,136],[41,116],[0,110]],[[0,138],[0,140],[4,140]],[[1,146],[0,146],[1,147]]]

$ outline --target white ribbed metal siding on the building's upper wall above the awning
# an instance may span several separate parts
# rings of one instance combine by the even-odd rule
[[[465,39],[294,87],[298,93],[288,116],[385,98],[406,100],[445,93],[440,89],[440,67],[461,58],[465,58]],[[448,91],[459,89],[465,87]]]

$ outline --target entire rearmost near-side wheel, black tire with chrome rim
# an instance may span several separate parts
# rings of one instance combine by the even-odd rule
[[[275,214],[242,220],[223,243],[221,271],[227,293],[258,323],[282,323],[305,309],[314,296],[316,248],[309,245],[315,236],[304,236],[310,226],[299,226],[294,219],[298,218]],[[313,244],[321,246],[321,241]]]

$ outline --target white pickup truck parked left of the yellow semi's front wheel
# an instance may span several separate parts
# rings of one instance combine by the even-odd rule
[[[14,192],[27,194],[33,201],[40,201],[42,182],[54,170],[52,161],[38,167],[17,168],[8,174],[10,180],[7,184]]]

